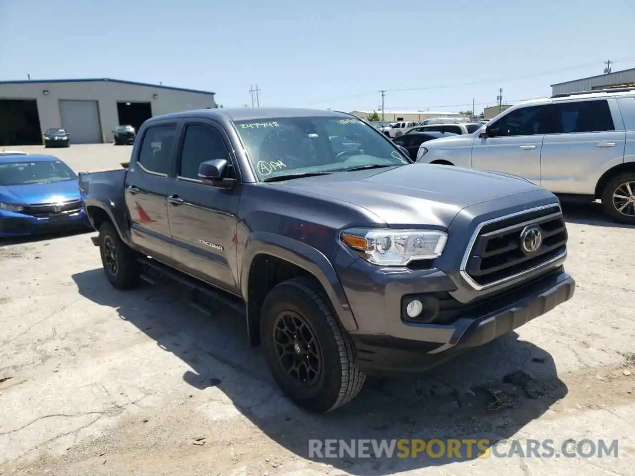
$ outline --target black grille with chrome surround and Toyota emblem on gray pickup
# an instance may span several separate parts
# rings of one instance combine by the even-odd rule
[[[532,242],[532,233],[542,239]],[[557,204],[486,221],[471,240],[461,272],[474,288],[495,286],[559,260],[566,255],[567,239]],[[538,244],[537,249],[528,250],[531,244]]]

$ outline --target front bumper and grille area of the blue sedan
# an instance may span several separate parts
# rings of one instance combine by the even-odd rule
[[[0,237],[20,237],[90,228],[84,209],[47,217],[0,212]]]

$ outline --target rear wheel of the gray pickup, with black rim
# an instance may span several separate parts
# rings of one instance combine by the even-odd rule
[[[137,287],[140,277],[137,253],[121,241],[119,233],[110,221],[104,221],[99,228],[99,251],[104,273],[113,288],[134,289]]]

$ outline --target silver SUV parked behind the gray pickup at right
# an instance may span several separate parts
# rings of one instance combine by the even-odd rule
[[[635,224],[635,88],[519,103],[471,135],[423,143],[417,161],[523,176]]]

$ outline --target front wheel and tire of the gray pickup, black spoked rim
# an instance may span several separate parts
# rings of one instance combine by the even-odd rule
[[[294,316],[296,324],[297,317],[304,321],[302,334],[305,337],[307,333],[312,334],[312,341],[316,343],[313,350],[314,355],[318,355],[319,369],[315,373],[303,372],[307,377],[304,383],[290,375],[277,353],[281,347],[276,343],[276,336],[283,333],[276,332],[276,327],[288,322],[290,315]],[[364,385],[366,374],[359,370],[355,362],[351,338],[333,314],[328,298],[319,286],[308,279],[284,281],[267,295],[262,305],[260,340],[274,380],[299,407],[314,412],[334,410],[354,399]],[[288,359],[297,359],[298,348],[295,343],[298,340],[295,343],[291,343],[291,339],[288,341],[287,348],[291,351]],[[300,343],[304,345],[305,341],[301,338]],[[309,360],[301,359],[300,362]],[[315,364],[316,360],[312,359],[312,362]],[[304,368],[307,369],[307,366]]]

